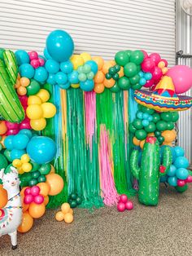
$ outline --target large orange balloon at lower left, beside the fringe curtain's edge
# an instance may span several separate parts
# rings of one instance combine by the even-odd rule
[[[55,196],[62,191],[64,182],[59,174],[47,174],[46,183],[50,185],[49,196]]]

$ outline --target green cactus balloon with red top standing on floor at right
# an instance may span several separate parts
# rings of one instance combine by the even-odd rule
[[[159,177],[167,173],[172,163],[170,148],[164,148],[163,165],[160,166],[159,143],[155,137],[147,137],[142,152],[142,164],[138,166],[138,151],[133,150],[130,166],[133,176],[139,181],[138,200],[143,205],[158,205]]]

